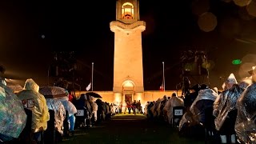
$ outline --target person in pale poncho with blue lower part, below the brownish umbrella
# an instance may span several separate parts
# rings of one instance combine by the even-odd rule
[[[62,102],[62,105],[64,106],[65,110],[67,110],[69,114],[69,122],[70,122],[70,133],[74,134],[74,123],[75,123],[75,117],[74,114],[76,114],[78,111],[74,104],[69,101],[69,95],[66,93],[66,97],[58,97],[54,98],[60,102]]]

